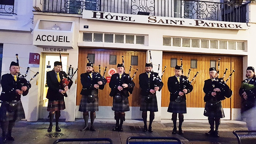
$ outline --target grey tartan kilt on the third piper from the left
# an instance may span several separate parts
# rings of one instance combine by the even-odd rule
[[[82,95],[78,111],[99,111],[98,95],[95,96],[94,102],[91,103],[87,102],[87,95]]]

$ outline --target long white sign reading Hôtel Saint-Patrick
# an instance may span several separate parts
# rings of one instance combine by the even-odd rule
[[[166,26],[203,27],[215,29],[247,30],[246,23],[215,20],[171,18],[163,16],[118,14],[113,12],[83,11],[83,19],[106,20],[126,23],[158,24]]]

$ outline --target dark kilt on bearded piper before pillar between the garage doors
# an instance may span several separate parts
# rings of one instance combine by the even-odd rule
[[[151,111],[151,112],[157,112],[157,95],[152,95],[152,101],[150,103],[146,103],[144,99],[147,96],[140,95],[140,111]]]

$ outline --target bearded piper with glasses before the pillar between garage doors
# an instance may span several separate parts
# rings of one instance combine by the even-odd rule
[[[155,113],[158,111],[156,91],[160,91],[163,87],[163,82],[159,79],[158,73],[151,72],[151,64],[145,65],[146,72],[139,75],[140,84],[140,111],[144,122],[143,131],[153,132],[152,122],[155,118]],[[147,111],[150,111],[149,125],[147,128]]]

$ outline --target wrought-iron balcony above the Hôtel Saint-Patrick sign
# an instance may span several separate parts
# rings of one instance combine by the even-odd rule
[[[223,0],[221,0],[223,1]],[[83,10],[248,23],[248,4],[196,0],[44,0],[45,12],[82,14]]]

